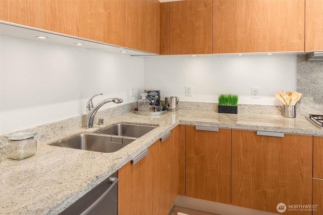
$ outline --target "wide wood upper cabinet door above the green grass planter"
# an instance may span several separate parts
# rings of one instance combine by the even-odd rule
[[[213,1],[213,53],[304,51],[304,32],[305,0]]]

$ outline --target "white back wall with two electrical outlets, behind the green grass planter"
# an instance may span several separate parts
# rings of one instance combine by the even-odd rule
[[[144,66],[145,89],[160,89],[162,99],[218,102],[233,93],[241,104],[273,105],[275,92],[296,91],[296,55],[148,57]],[[185,96],[186,85],[193,96]],[[260,99],[251,98],[251,87],[260,88]]]

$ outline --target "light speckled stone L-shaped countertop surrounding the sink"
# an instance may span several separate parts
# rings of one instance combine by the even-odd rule
[[[116,123],[158,127],[115,153],[48,146]],[[103,126],[80,128],[39,141],[36,155],[30,158],[15,161],[4,155],[0,164],[0,214],[58,214],[178,124],[323,135],[323,129],[312,125],[304,116],[284,118],[276,114],[219,114],[201,110],[141,116],[129,112],[106,119]]]

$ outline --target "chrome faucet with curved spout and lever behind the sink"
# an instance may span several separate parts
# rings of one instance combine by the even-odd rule
[[[103,93],[97,94],[95,96],[99,96],[99,95],[103,95]],[[120,98],[110,98],[110,99],[105,99],[105,100],[101,101],[100,103],[98,103],[94,107],[93,102],[92,102],[92,99],[95,96],[93,96],[92,98],[90,98],[90,100],[86,104],[86,127],[87,128],[92,128],[93,127],[93,121],[94,121],[95,114],[98,111],[98,109],[100,107],[102,107],[102,105],[104,105],[106,103],[109,103],[109,102],[114,102],[116,104],[123,102],[123,100],[120,99]]]

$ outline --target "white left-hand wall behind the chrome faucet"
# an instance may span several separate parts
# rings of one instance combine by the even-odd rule
[[[62,45],[0,37],[0,134],[85,113],[88,99],[143,91],[144,60]],[[140,95],[140,94],[139,94]],[[102,108],[111,107],[113,103]]]

